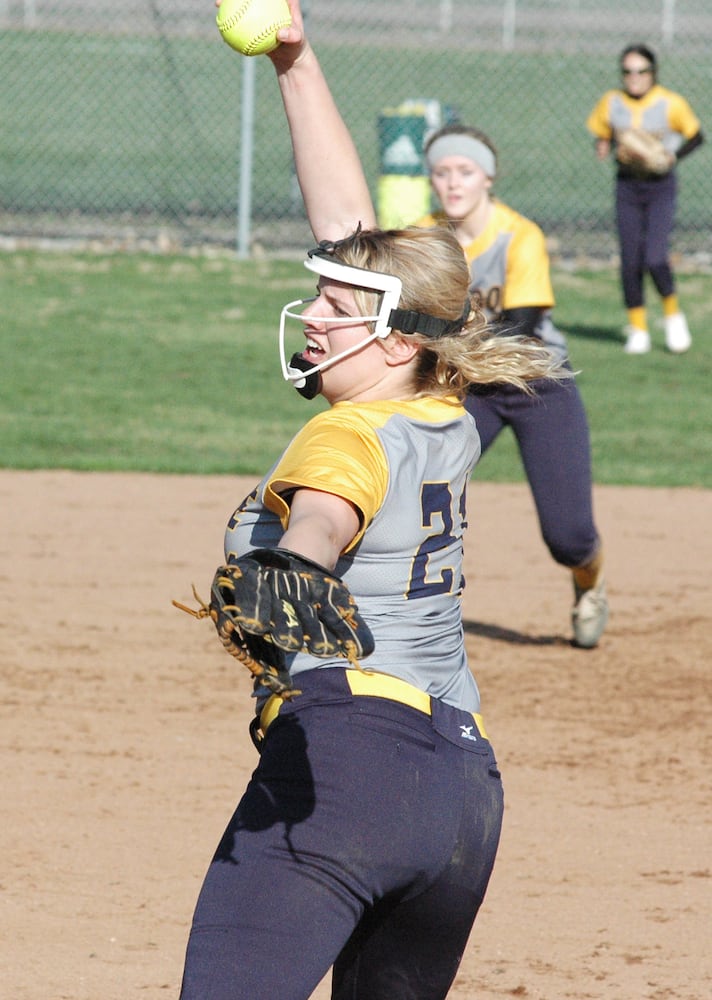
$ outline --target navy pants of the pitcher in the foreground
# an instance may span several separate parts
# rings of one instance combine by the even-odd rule
[[[203,884],[182,1000],[442,1000],[494,864],[502,786],[473,716],[299,674]]]

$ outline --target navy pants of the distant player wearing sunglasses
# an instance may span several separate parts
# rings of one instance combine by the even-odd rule
[[[677,178],[616,179],[616,225],[621,253],[621,283],[627,309],[643,305],[643,281],[652,278],[665,298],[675,291],[670,266],[670,236],[675,223]]]

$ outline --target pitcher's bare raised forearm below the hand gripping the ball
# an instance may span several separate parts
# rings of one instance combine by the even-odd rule
[[[358,152],[313,50],[278,73],[297,177],[317,240],[376,224]]]

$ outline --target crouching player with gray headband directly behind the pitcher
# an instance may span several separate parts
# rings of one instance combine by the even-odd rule
[[[554,295],[544,234],[493,197],[497,154],[484,132],[446,125],[425,159],[440,211],[419,225],[448,225],[470,270],[470,291],[500,333],[534,337],[567,362],[553,323]],[[465,400],[484,453],[509,426],[519,446],[542,536],[572,571],[574,642],[596,646],[608,621],[601,540],[594,524],[588,423],[573,378],[546,381],[536,394],[516,386],[471,386]]]

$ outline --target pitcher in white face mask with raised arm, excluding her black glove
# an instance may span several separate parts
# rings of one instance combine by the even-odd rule
[[[335,571],[375,648],[368,673],[287,654],[301,693],[258,692],[262,754],[200,893],[182,998],[306,1000],[333,965],[338,1000],[441,1000],[502,818],[463,640],[479,438],[461,398],[474,379],[550,374],[552,358],[487,335],[446,229],[353,233],[373,207],[292,8],[271,58],[322,242],[285,373],[331,406],[238,507],[225,554],[239,565],[286,549]]]

